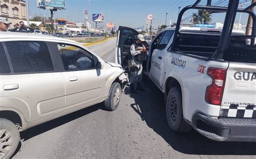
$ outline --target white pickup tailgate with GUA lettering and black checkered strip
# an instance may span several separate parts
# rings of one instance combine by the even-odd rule
[[[230,63],[220,117],[256,118],[256,64]]]

